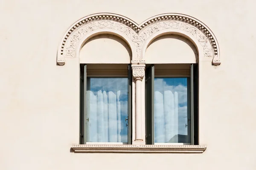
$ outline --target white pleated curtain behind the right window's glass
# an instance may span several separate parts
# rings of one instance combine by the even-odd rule
[[[154,92],[154,130],[155,143],[178,142],[177,92]]]

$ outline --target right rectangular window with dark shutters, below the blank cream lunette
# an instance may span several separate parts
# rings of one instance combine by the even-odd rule
[[[146,144],[198,144],[198,65],[146,69]]]

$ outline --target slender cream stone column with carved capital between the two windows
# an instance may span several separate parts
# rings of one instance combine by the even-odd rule
[[[142,120],[142,95],[141,82],[145,75],[145,61],[132,61],[132,75],[135,79],[135,140],[133,144],[142,145],[143,141],[143,129],[145,126]]]

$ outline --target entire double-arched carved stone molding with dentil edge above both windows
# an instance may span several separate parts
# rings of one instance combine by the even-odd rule
[[[92,14],[76,21],[65,32],[57,52],[58,65],[65,64],[65,58],[76,58],[81,46],[92,35],[113,34],[128,43],[132,60],[143,60],[148,44],[162,34],[185,36],[198,49],[199,58],[212,58],[212,64],[220,65],[217,39],[201,21],[184,14],[160,14],[138,25],[122,15],[111,13]]]

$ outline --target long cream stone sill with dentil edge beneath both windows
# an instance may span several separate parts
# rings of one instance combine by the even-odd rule
[[[203,153],[206,145],[73,144],[71,148],[84,153]]]

